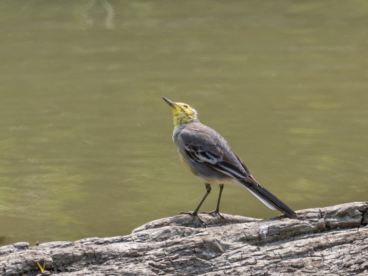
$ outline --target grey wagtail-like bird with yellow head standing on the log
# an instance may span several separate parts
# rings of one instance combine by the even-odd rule
[[[169,104],[174,116],[173,142],[184,167],[206,185],[206,194],[198,207],[188,214],[204,223],[198,216],[198,210],[209,195],[211,185],[219,185],[220,193],[216,209],[202,212],[211,215],[220,214],[220,200],[224,184],[236,184],[247,188],[256,198],[272,210],[279,210],[287,217],[296,218],[297,214],[271,192],[263,188],[252,176],[239,156],[230,148],[226,140],[215,130],[199,121],[198,112],[186,103]],[[205,223],[204,223],[205,224]]]

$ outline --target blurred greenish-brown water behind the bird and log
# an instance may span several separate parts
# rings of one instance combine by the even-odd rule
[[[367,14],[365,0],[1,1],[0,245],[194,210],[205,185],[161,96],[292,209],[367,201]],[[220,211],[280,215],[230,185]]]

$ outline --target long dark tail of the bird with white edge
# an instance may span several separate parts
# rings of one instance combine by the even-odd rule
[[[258,184],[258,183],[257,183]],[[244,183],[243,185],[247,188],[252,194],[255,195],[263,204],[265,204],[270,209],[277,209],[280,212],[283,212],[286,216],[295,219],[298,215],[291,210],[286,204],[284,204],[280,199],[275,197],[271,192],[267,191],[260,184],[258,185],[250,185],[248,183]]]

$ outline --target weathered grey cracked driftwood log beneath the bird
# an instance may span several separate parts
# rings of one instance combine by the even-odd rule
[[[0,247],[3,276],[368,275],[368,202],[300,210],[297,219],[189,215],[132,234]],[[46,275],[47,272],[44,274]]]

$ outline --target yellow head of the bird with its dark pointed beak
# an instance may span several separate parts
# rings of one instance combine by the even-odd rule
[[[166,99],[165,97],[162,98],[165,100],[165,102],[169,104],[169,106],[173,110],[174,126],[176,128],[191,121],[198,120],[197,110],[195,110],[190,105],[187,105],[186,103],[174,103],[171,102],[171,100]]]

